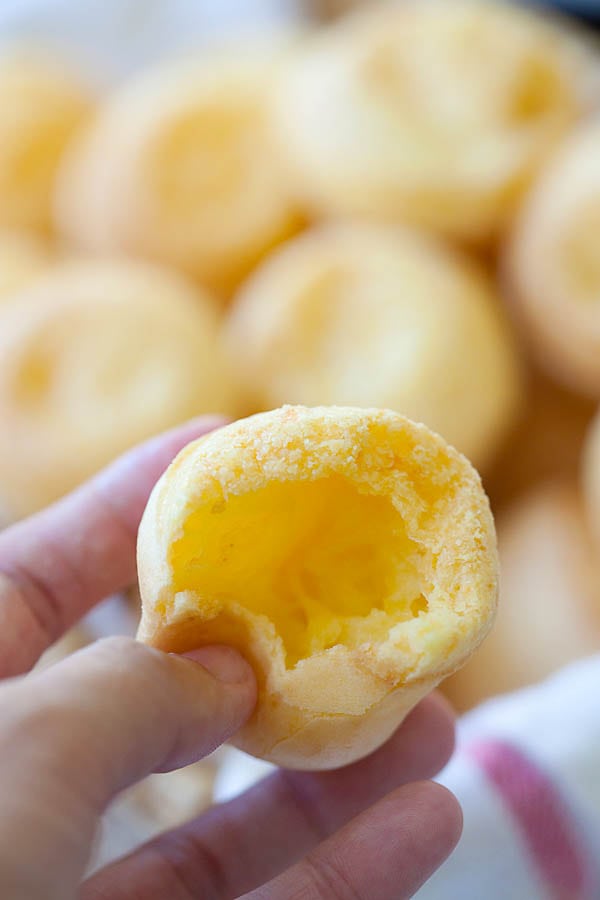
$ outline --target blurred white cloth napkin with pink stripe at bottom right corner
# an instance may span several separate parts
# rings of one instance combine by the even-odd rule
[[[459,723],[461,841],[419,900],[600,897],[600,656]]]

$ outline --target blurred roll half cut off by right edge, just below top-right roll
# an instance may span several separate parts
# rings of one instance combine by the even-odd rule
[[[505,271],[540,365],[600,397],[600,119],[565,142],[528,195]]]

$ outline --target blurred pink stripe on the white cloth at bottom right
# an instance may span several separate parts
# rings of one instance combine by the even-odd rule
[[[465,747],[518,823],[553,900],[589,897],[591,872],[577,827],[558,788],[517,747],[499,740]]]

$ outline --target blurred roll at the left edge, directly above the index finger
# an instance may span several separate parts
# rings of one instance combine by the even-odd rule
[[[64,263],[0,321],[0,497],[13,516],[138,441],[231,410],[212,298],[158,266]]]

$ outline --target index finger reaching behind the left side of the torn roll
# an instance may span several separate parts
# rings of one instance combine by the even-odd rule
[[[28,671],[92,606],[134,581],[137,528],[155,482],[189,441],[223,424],[204,416],[152,438],[0,534],[0,677]]]

